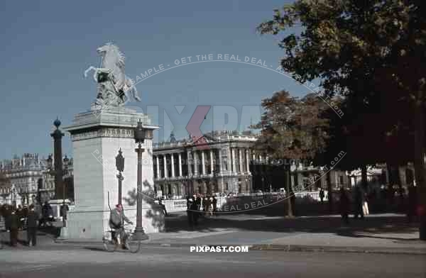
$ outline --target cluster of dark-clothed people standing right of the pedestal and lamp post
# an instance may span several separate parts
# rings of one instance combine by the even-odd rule
[[[187,196],[187,218],[190,228],[198,225],[200,216],[214,216],[216,212],[217,199],[215,196],[202,196],[202,194]]]

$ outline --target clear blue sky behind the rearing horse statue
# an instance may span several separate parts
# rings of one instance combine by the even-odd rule
[[[272,36],[256,33],[256,26],[286,2],[1,1],[0,159],[53,152],[53,121],[58,116],[67,126],[75,113],[89,109],[96,84],[83,72],[99,66],[96,49],[110,41],[124,52],[126,75],[132,79],[160,64],[173,66],[182,57],[209,54],[215,59],[217,54],[239,55],[243,61],[255,57],[275,69],[283,51]],[[247,113],[241,116],[243,106],[253,109],[280,89],[295,96],[307,93],[282,74],[237,62],[176,67],[136,87],[142,101],[130,105],[148,113],[158,106],[153,122],[163,127],[155,134],[160,141],[167,140],[171,129],[176,138],[186,137],[185,126],[197,105],[217,107],[209,111],[202,130],[242,130],[250,123]],[[185,108],[179,114],[175,106]],[[238,127],[232,115],[229,123],[221,123],[222,111],[232,110],[224,106],[238,111]],[[258,120],[259,113],[249,114],[253,123]],[[69,135],[63,145],[72,155]]]

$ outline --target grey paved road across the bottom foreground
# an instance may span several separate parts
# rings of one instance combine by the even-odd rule
[[[0,277],[426,277],[425,256],[249,251],[0,250]]]

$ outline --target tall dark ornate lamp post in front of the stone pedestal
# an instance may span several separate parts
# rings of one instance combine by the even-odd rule
[[[135,240],[147,240],[148,235],[143,231],[142,226],[142,153],[144,149],[141,143],[146,138],[145,129],[142,126],[141,119],[138,121],[138,126],[134,131],[135,142],[138,148],[135,151],[138,153],[138,191],[137,191],[137,205],[136,205],[136,228],[134,233]]]

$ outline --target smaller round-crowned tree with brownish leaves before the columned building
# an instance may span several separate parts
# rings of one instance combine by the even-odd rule
[[[314,159],[317,152],[325,148],[327,119],[321,118],[326,104],[315,94],[302,99],[290,96],[288,91],[277,91],[271,98],[263,99],[264,109],[260,123],[252,128],[261,129],[255,150],[268,154],[275,160]],[[285,165],[283,165],[285,166]],[[293,194],[290,187],[290,167],[287,164],[285,184],[288,196]],[[293,216],[291,199],[288,198],[288,216]]]

